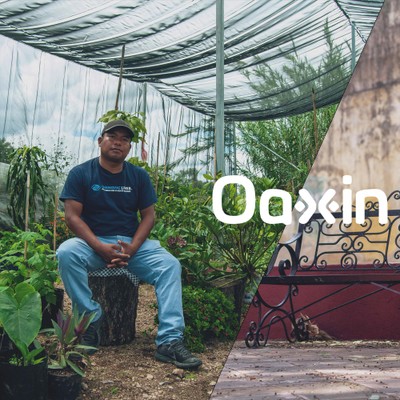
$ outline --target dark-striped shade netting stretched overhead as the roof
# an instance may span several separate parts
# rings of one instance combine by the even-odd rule
[[[310,110],[311,86],[317,106],[339,101],[382,4],[225,1],[226,118],[266,119]],[[0,3],[0,34],[112,75],[119,73],[125,44],[126,79],[151,82],[209,115],[215,112],[215,30],[214,0]],[[340,51],[340,57],[332,51]],[[288,70],[293,57],[297,68]],[[265,75],[274,77],[269,85]]]

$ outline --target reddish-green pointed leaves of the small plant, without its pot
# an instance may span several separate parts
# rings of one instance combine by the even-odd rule
[[[48,334],[49,369],[70,368],[78,375],[85,375],[83,366],[89,362],[86,350],[94,347],[81,345],[79,341],[94,317],[95,313],[79,315],[77,308],[69,314],[58,312],[57,321],[52,321],[53,328],[42,331]]]

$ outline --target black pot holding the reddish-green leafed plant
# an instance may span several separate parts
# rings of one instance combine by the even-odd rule
[[[49,400],[75,400],[78,398],[82,377],[74,372],[49,369]]]

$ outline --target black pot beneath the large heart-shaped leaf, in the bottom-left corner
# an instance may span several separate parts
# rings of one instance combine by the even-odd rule
[[[47,359],[26,367],[11,365],[8,359],[0,358],[1,400],[47,400]]]

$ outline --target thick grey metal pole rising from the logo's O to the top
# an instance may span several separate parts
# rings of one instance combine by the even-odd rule
[[[224,144],[224,0],[217,0],[216,12],[216,104],[215,104],[216,171],[225,174]]]

